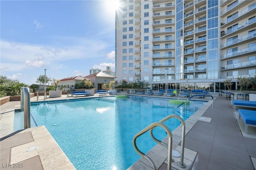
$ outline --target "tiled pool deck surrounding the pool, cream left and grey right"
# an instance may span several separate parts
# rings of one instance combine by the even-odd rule
[[[210,99],[206,105],[185,121],[184,163],[186,167],[177,166],[180,158],[174,158],[172,169],[255,170],[256,127],[249,126],[248,134],[243,133],[243,121],[237,120],[238,111],[233,110],[230,100],[218,97],[218,94],[210,95],[214,96],[214,108],[212,108]],[[44,101],[44,96],[39,97],[38,101]],[[62,95],[60,98],[46,98],[46,101],[88,97],[67,98],[66,95]],[[36,101],[36,97],[31,98],[30,101]],[[0,170],[75,169],[46,127],[39,126],[14,132],[12,129],[14,109],[20,109],[20,101],[8,102],[0,106]],[[181,131],[181,125],[172,131],[172,148],[178,151],[181,150]],[[164,139],[164,142],[167,143],[167,139]],[[37,149],[34,150],[34,147]],[[26,149],[30,149],[29,152]],[[166,148],[158,144],[147,155],[156,163],[157,169],[167,169]],[[140,158],[128,169],[148,170],[152,168],[145,158]]]

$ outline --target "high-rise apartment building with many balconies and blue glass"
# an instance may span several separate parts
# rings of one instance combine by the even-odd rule
[[[255,0],[120,0],[116,79],[225,90],[256,74]]]

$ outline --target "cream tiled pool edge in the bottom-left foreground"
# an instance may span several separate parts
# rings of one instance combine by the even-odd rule
[[[44,169],[76,169],[44,125],[24,129],[18,133],[15,133],[13,131],[14,110],[15,109],[6,109],[4,111],[0,120],[0,137],[8,138],[9,136],[31,133],[33,141],[29,143],[23,143],[22,145],[18,145],[15,147],[10,147],[10,162],[4,163],[16,164],[18,162],[33,158],[34,156],[39,156]],[[31,147],[30,145],[38,146],[38,149],[32,152],[25,152],[24,150],[28,147]],[[1,157],[4,156],[5,155],[1,155]]]

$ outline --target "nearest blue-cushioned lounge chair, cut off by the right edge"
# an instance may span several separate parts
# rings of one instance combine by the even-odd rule
[[[248,133],[248,126],[256,127],[256,111],[254,110],[245,110],[238,109],[239,119],[244,121],[244,132]]]

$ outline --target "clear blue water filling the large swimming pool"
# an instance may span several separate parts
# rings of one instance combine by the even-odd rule
[[[184,106],[179,107],[178,113],[182,113],[186,120],[205,103],[192,100],[186,110]],[[31,103],[31,114],[38,126],[46,126],[76,169],[124,170],[140,158],[132,146],[134,135],[151,123],[173,114],[176,106],[164,98],[106,97],[100,100]],[[170,119],[165,124],[173,131],[180,121]],[[22,112],[14,116],[14,130],[19,129],[23,129]],[[160,128],[155,128],[154,134],[160,140],[166,137]],[[139,137],[137,144],[142,152],[156,145],[149,133]]]

